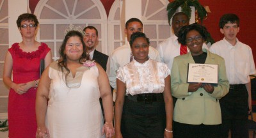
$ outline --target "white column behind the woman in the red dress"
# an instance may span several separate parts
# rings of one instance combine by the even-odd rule
[[[16,20],[20,14],[28,12],[28,2],[28,0],[8,0],[9,47],[15,42],[22,41]]]

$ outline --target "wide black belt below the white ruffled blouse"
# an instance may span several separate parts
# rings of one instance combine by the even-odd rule
[[[151,104],[157,102],[157,100],[163,99],[163,93],[144,93],[139,95],[127,95],[129,100],[134,102],[144,102],[145,104]]]

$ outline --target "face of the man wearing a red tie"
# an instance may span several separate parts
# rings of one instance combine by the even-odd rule
[[[172,21],[172,28],[175,36],[178,36],[181,27],[188,26],[188,25],[189,25],[189,20],[186,17],[186,15],[175,16]]]

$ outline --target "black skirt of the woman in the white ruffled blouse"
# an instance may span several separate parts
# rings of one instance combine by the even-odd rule
[[[121,119],[123,137],[164,137],[166,114],[163,94],[152,103],[137,102],[136,96],[125,96]]]

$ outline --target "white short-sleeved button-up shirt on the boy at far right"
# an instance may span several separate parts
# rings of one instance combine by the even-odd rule
[[[210,51],[225,59],[227,78],[230,84],[246,84],[250,82],[251,74],[255,74],[252,49],[236,39],[236,45],[231,45],[225,38],[214,43]]]

